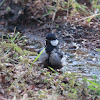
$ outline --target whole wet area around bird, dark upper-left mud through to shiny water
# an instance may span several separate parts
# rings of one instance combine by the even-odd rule
[[[37,51],[44,46],[46,34],[55,33],[65,53],[66,70],[86,76],[100,75],[100,52],[96,51],[100,49],[100,20],[93,20],[90,26],[61,19],[41,20],[30,17],[33,15],[28,6],[6,2],[0,8],[0,36],[6,37],[16,27],[16,32],[29,40],[23,48]]]

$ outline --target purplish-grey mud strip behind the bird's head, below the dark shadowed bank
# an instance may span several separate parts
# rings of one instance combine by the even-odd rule
[[[83,48],[87,48],[90,50],[95,50],[96,48],[100,48],[100,29],[99,28],[91,28],[91,27],[83,27],[81,25],[75,24],[60,24],[56,23],[52,24],[55,26],[53,28],[46,27],[47,24],[37,28],[37,31],[31,29],[28,31],[25,30],[25,34],[31,40],[37,40],[44,42],[45,36],[47,33],[55,33],[58,36],[58,39],[61,43],[72,44],[76,43]],[[45,27],[44,27],[45,26]]]

